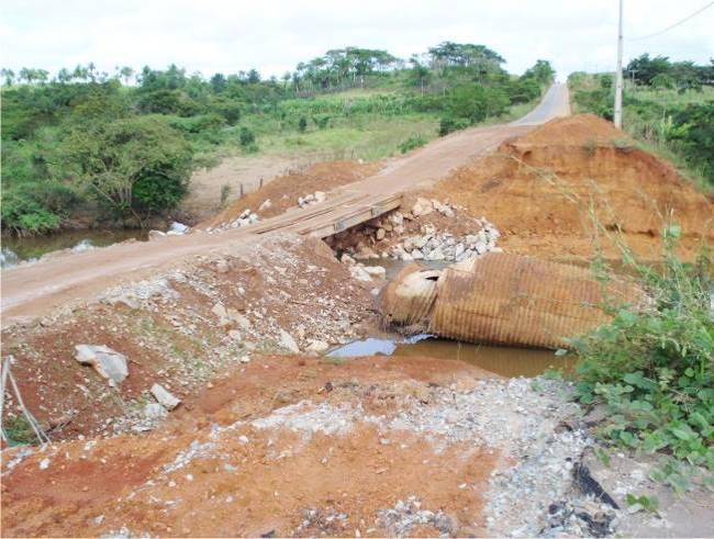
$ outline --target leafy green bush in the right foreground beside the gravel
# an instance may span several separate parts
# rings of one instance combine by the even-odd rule
[[[636,266],[654,303],[620,308],[571,344],[582,403],[607,408],[600,435],[613,445],[666,456],[654,478],[677,490],[702,474],[714,487],[714,281],[709,258],[682,263],[666,232],[661,271]]]

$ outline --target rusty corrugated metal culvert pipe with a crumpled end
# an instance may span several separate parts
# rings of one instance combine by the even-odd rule
[[[610,321],[603,304],[645,304],[634,283],[603,283],[587,268],[492,252],[444,270],[404,268],[384,289],[381,313],[406,333],[542,348]]]

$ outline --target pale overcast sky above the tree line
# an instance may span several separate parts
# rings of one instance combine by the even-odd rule
[[[651,38],[706,0],[624,0],[625,61],[649,52],[707,63],[714,7]],[[0,66],[56,72],[174,63],[204,76],[256,68],[280,76],[331,48],[409,58],[443,41],[487,45],[521,74],[548,59],[565,80],[613,70],[617,0],[3,0]]]

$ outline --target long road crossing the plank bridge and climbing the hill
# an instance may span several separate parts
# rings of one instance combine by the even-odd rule
[[[521,121],[523,125],[516,122],[475,127],[439,138],[394,159],[376,176],[331,192],[323,204],[288,211],[263,222],[261,226],[115,245],[3,270],[2,326],[42,316],[66,303],[87,301],[122,280],[140,279],[158,268],[180,263],[192,255],[239,249],[256,239],[256,232],[276,234],[324,227],[354,213],[359,206],[368,207],[391,194],[436,181],[495,148],[504,139],[527,133],[532,125],[568,113],[567,88],[554,85],[535,111]]]

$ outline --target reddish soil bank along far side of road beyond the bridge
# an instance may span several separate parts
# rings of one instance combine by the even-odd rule
[[[274,217],[283,213],[288,207],[297,206],[300,196],[315,191],[327,192],[336,187],[353,183],[376,175],[380,168],[379,162],[326,161],[313,165],[303,171],[291,171],[233,202],[217,215],[201,223],[199,227],[205,228],[230,223],[248,209],[258,212],[260,204],[268,199],[271,203],[270,209],[258,212],[258,215],[261,218]]]

